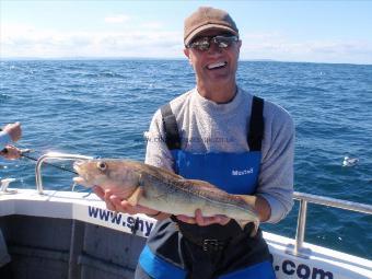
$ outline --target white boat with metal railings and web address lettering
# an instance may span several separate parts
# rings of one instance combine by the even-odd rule
[[[35,167],[34,188],[0,189],[0,229],[14,279],[133,278],[139,254],[156,220],[106,209],[94,194],[44,190],[42,166],[50,160],[84,160],[46,153]],[[372,206],[294,193],[295,239],[264,232],[278,279],[371,279],[372,260],[305,242],[307,204],[372,214]]]

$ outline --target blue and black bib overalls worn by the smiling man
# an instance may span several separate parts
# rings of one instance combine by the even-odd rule
[[[256,191],[264,133],[264,101],[254,97],[247,142],[248,152],[190,153],[181,150],[181,138],[171,106],[162,107],[165,140],[175,171],[185,178],[207,181],[240,195]],[[175,217],[159,221],[143,248],[136,279],[275,279],[272,257],[261,231],[251,237],[231,220],[226,225],[198,226]]]

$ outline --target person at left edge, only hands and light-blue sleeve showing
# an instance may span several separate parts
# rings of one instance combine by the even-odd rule
[[[10,146],[10,143],[18,141],[21,136],[22,129],[20,123],[8,124],[3,129],[0,129],[0,155],[8,160],[20,158],[20,150]]]

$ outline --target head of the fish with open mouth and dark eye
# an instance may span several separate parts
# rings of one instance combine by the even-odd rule
[[[140,172],[130,161],[113,159],[79,160],[73,163],[79,177],[73,182],[84,187],[100,186],[127,198],[139,186]]]

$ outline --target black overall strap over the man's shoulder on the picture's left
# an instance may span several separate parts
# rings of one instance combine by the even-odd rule
[[[181,149],[181,138],[176,117],[174,116],[170,103],[160,108],[163,118],[165,132],[165,143],[170,150]]]

